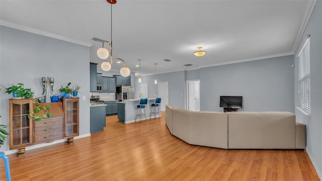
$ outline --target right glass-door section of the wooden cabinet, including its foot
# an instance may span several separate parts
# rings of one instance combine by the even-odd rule
[[[79,135],[79,98],[62,98],[64,110],[64,138],[73,144]]]

